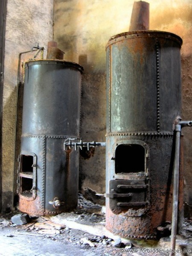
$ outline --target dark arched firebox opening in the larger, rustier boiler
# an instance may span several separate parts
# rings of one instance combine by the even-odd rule
[[[145,172],[145,148],[139,144],[121,144],[115,151],[115,173]]]

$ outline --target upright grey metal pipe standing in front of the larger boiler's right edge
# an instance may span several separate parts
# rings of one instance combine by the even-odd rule
[[[175,250],[175,241],[177,234],[177,210],[178,210],[178,190],[179,190],[179,158],[180,158],[180,131],[181,125],[175,126],[175,159],[174,159],[174,180],[173,180],[173,209],[172,209],[172,234],[171,234],[171,251]],[[170,253],[170,256],[175,253]]]

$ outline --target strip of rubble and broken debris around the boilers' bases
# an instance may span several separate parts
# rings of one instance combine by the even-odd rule
[[[81,200],[80,200],[81,199]],[[37,216],[30,219],[30,223],[15,225],[10,221],[12,215],[20,214],[13,212],[6,216],[0,216],[0,230],[12,229],[8,237],[14,236],[40,236],[45,239],[61,241],[64,244],[73,244],[79,248],[90,250],[96,255],[106,256],[144,256],[145,253],[131,253],[131,250],[148,247],[169,247],[170,238],[160,239],[160,241],[129,240],[115,236],[105,230],[105,207],[94,204],[79,193],[78,208],[71,212],[59,215]],[[159,230],[169,229],[170,223],[160,226]],[[185,246],[192,251],[192,221],[185,219],[183,223],[183,241],[177,239],[178,246]],[[14,238],[13,238],[14,239]],[[181,244],[181,245],[180,245]],[[122,253],[120,250],[124,250]],[[126,250],[126,251],[125,251]],[[126,253],[125,253],[126,252]],[[130,252],[130,253],[129,253]],[[154,256],[151,253],[148,256]],[[158,254],[164,255],[164,254]]]

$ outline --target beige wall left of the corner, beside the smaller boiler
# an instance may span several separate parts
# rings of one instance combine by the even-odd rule
[[[20,52],[30,50],[37,43],[46,48],[47,42],[52,40],[53,2],[54,0],[8,0],[7,3],[3,89],[3,211],[12,205],[15,157],[17,158],[19,151],[17,145],[15,156],[18,57]],[[21,61],[27,61],[34,55],[35,53],[22,55]],[[22,74],[20,77],[22,80]]]

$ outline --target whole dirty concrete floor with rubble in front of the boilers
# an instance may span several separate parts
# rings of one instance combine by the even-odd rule
[[[80,195],[81,196],[81,195]],[[18,211],[0,216],[0,255],[2,256],[164,256],[169,237],[160,242],[127,241],[115,247],[116,237],[104,235],[105,214],[99,205],[80,198],[78,209],[57,216],[31,218],[24,225],[12,224]],[[57,224],[55,224],[57,223]],[[191,250],[176,256],[192,255],[192,221],[185,221],[187,233],[177,249]],[[71,228],[73,227],[73,228]],[[104,228],[104,229],[102,229]],[[102,233],[103,232],[103,233]],[[102,235],[103,234],[103,235]],[[131,242],[131,243],[130,243]],[[181,244],[181,245],[180,245]],[[130,248],[131,247],[131,248]],[[161,251],[160,251],[161,250]]]

